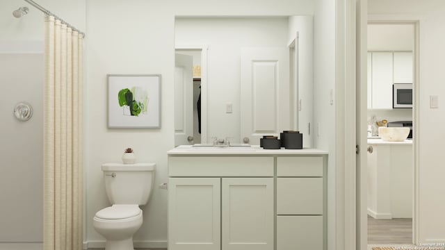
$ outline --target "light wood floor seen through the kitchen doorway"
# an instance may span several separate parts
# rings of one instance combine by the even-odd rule
[[[412,244],[412,219],[368,216],[368,244]]]

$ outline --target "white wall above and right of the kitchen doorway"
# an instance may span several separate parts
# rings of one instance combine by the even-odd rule
[[[445,2],[442,0],[369,1],[372,19],[419,19],[419,240],[445,242],[443,143],[445,138]],[[439,96],[439,108],[430,108],[430,95]],[[442,101],[441,101],[442,100]]]

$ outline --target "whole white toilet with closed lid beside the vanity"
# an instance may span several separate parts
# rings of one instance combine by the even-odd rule
[[[133,250],[133,234],[143,224],[143,211],[152,192],[154,163],[105,163],[102,165],[108,201],[93,221],[106,239],[105,250]]]

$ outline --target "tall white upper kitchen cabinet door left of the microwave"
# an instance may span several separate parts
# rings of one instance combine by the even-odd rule
[[[393,53],[372,53],[372,108],[392,109]]]

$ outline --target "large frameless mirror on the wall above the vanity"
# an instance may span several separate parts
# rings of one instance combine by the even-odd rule
[[[185,66],[178,66],[184,63],[179,63],[178,58],[181,56],[177,56],[176,144],[211,143],[212,138],[229,138],[233,143],[243,143],[243,139],[248,138],[250,144],[259,144],[253,133],[245,131],[254,131],[255,135],[277,135],[283,130],[300,129],[305,135],[305,147],[310,147],[313,92],[312,26],[312,16],[177,17],[175,53],[191,56],[192,67],[187,70],[193,71],[194,67],[195,81],[186,83],[177,80],[184,76],[186,70]],[[257,52],[253,53],[254,49]],[[275,59],[278,54],[281,59]],[[254,75],[257,78],[267,72],[273,76],[278,74],[277,72],[285,73],[271,78],[270,83],[255,82],[251,79],[253,83],[246,89],[245,81],[248,80],[243,77],[247,72],[243,66],[243,61],[247,62],[246,60],[251,60],[253,65],[257,65],[252,68],[252,74],[257,74]],[[199,67],[201,74],[197,74]],[[262,77],[267,78],[267,74]],[[199,76],[201,78],[198,79]],[[201,141],[196,133],[199,127],[199,85]],[[190,95],[195,97],[188,98]],[[188,102],[184,104],[186,100],[190,100],[192,105]],[[193,107],[194,111],[188,112],[187,106]],[[246,125],[245,121],[252,122]],[[195,127],[194,134],[193,129],[188,129],[188,126]]]

